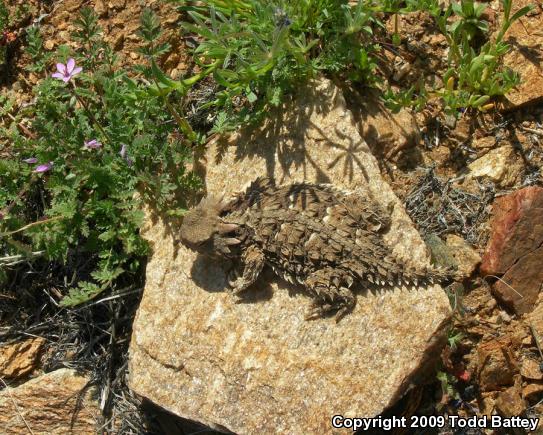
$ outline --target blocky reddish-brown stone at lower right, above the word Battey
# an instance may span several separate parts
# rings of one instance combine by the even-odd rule
[[[511,341],[493,340],[479,346],[477,365],[481,391],[493,391],[511,385],[518,371],[511,353]]]

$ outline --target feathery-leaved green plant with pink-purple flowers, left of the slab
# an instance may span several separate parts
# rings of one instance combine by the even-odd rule
[[[29,127],[0,129],[0,140],[12,144],[11,157],[0,161],[0,252],[84,258],[68,281],[66,306],[139,273],[148,252],[139,235],[144,201],[180,215],[187,191],[199,186],[186,168],[192,152],[162,96],[117,67],[90,9],[76,25],[80,47],[57,51],[65,63],[18,114]],[[30,54],[40,70],[46,63],[36,32]]]

